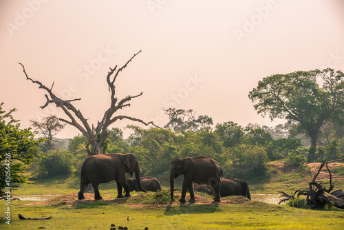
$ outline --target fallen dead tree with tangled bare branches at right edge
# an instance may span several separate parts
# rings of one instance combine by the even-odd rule
[[[331,162],[333,161],[336,160],[332,160]],[[321,182],[316,182],[316,177],[319,176],[321,169],[323,169],[325,165],[330,175],[330,187],[328,189],[326,189]],[[295,195],[297,194],[297,197],[301,195],[306,196],[307,205],[310,205],[311,207],[324,207],[325,205],[332,206],[333,204],[334,207],[344,209],[344,200],[330,194],[333,188],[334,185],[332,185],[332,174],[330,169],[328,168],[328,162],[326,159],[323,161],[323,163],[321,163],[318,172],[314,175],[312,181],[309,183],[308,190],[297,190],[292,195],[288,195],[284,191],[279,191],[279,193],[282,194],[282,197],[286,197],[285,199],[280,200],[279,204],[281,202],[290,200],[291,198],[295,198]]]

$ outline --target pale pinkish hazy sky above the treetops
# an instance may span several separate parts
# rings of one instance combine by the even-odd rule
[[[193,109],[214,125],[273,127],[249,92],[266,76],[344,71],[342,0],[0,0],[0,102],[21,127],[55,114],[41,81],[96,125],[110,105],[109,67],[124,65],[116,96],[142,96],[115,115],[166,125],[163,109]],[[111,127],[123,128],[131,121]],[[67,126],[59,138],[80,132]],[[130,131],[125,129],[125,136]]]

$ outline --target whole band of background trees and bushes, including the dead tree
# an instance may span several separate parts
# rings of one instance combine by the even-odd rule
[[[76,164],[86,156],[94,154],[114,151],[133,152],[140,159],[144,174],[151,174],[165,170],[171,158],[205,155],[217,160],[228,172],[228,176],[239,177],[265,174],[266,164],[270,160],[285,159],[292,165],[302,165],[305,160],[311,163],[320,161],[325,156],[330,159],[343,156],[343,72],[330,68],[297,71],[267,76],[259,81],[257,87],[249,92],[248,97],[258,114],[269,116],[272,120],[286,119],[288,123],[281,127],[269,128],[259,125],[241,127],[233,121],[213,127],[211,117],[196,117],[192,109],[176,108],[166,109],[169,123],[164,127],[157,127],[151,121],[118,115],[121,109],[130,106],[131,99],[142,96],[140,92],[135,96],[129,95],[118,100],[115,85],[120,72],[125,70],[140,52],[141,50],[133,54],[122,67],[118,65],[110,67],[105,79],[111,94],[111,103],[96,125],[89,124],[80,109],[74,106],[74,102],[80,101],[81,98],[69,100],[59,98],[54,94],[54,83],[51,87],[47,87],[40,81],[30,78],[24,65],[19,63],[25,78],[46,93],[46,102],[41,108],[54,104],[67,116],[67,118],[54,117],[45,121],[32,121],[32,127],[36,128],[36,132],[41,131],[46,138],[45,149],[42,150],[50,150],[48,151],[50,154],[43,154],[42,159],[47,160],[56,156],[55,160],[68,158],[70,164]],[[30,129],[19,128],[19,121],[12,118],[15,109],[6,113],[1,106],[1,178],[6,178],[8,168],[6,154],[10,153],[14,160],[11,182],[23,182],[24,177],[19,171],[39,158],[38,149],[43,140],[35,140]],[[122,119],[153,127],[143,129],[132,125],[129,128],[133,129],[133,134],[124,140],[121,130],[110,129],[110,125]],[[39,125],[62,129],[65,124],[76,127],[81,135],[74,137],[69,143],[69,151],[61,154],[60,151],[52,151],[54,132],[42,132]],[[274,130],[276,132],[272,132]],[[49,160],[46,165],[48,163]],[[52,166],[56,165],[58,164],[52,164]],[[71,171],[78,170],[79,165],[73,167],[74,170],[72,168]],[[60,165],[59,168],[62,166]],[[1,188],[3,187],[6,187],[5,180],[1,181]]]

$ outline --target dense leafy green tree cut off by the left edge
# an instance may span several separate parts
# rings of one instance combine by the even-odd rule
[[[34,140],[30,129],[20,129],[12,113],[5,112],[0,104],[0,195],[5,187],[18,187],[26,181],[23,175],[27,165],[38,156],[39,145],[44,139]],[[10,176],[10,177],[8,177]],[[8,180],[10,178],[10,180]]]

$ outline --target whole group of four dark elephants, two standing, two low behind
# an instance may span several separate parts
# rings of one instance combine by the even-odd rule
[[[135,178],[126,179],[125,174]],[[170,165],[171,200],[174,196],[174,180],[184,175],[182,182],[182,196],[180,202],[185,202],[186,191],[190,193],[189,202],[195,202],[195,191],[206,192],[220,201],[224,196],[244,196],[250,199],[248,182],[224,177],[222,167],[216,160],[206,156],[174,158]],[[102,200],[98,185],[116,180],[118,196],[130,196],[130,191],[158,191],[161,190],[159,180],[153,177],[140,177],[140,166],[134,154],[98,154],[85,159],[80,173],[80,191],[78,199],[85,199],[84,192],[87,185],[94,188],[94,199]]]

